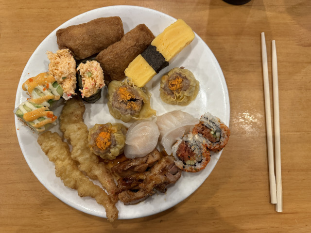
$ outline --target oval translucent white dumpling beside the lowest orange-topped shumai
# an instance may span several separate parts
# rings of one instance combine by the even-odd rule
[[[143,157],[152,152],[160,136],[155,122],[137,121],[126,133],[124,155],[127,158]]]

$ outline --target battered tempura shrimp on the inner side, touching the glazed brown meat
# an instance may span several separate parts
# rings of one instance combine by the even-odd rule
[[[85,171],[91,179],[99,180],[107,190],[111,201],[116,203],[118,201],[116,183],[104,163],[99,162],[98,156],[88,147],[88,130],[83,122],[85,109],[81,100],[69,99],[60,115],[60,129],[65,139],[72,145],[71,158],[79,163],[79,169]]]

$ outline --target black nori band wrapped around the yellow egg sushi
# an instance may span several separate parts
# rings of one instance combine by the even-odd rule
[[[158,74],[160,70],[169,65],[169,62],[165,61],[163,55],[156,50],[155,46],[148,46],[142,53],[141,56],[148,62],[148,64]]]

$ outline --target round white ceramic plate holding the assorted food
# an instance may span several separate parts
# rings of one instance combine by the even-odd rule
[[[27,62],[17,88],[15,108],[28,97],[22,90],[22,83],[28,78],[48,71],[49,60],[46,56],[46,51],[56,52],[58,49],[55,35],[58,29],[107,16],[120,16],[123,21],[124,32],[133,29],[140,23],[144,23],[155,36],[176,20],[161,12],[137,6],[109,6],[95,9],[70,19],[52,31],[36,48]],[[168,105],[162,102],[159,96],[161,76],[170,69],[180,66],[184,66],[192,71],[194,76],[200,81],[200,92],[198,96],[186,107]],[[201,114],[209,111],[211,114],[218,116],[225,124],[229,124],[229,96],[224,75],[213,53],[197,34],[195,34],[195,38],[190,45],[181,51],[168,67],[156,75],[147,84],[147,87],[152,93],[151,106],[157,111],[157,115],[179,109],[199,118]],[[107,100],[105,98],[106,92],[107,90],[104,88],[102,98],[95,104],[86,103],[84,119],[89,128],[95,123],[120,122],[109,114],[106,105]],[[61,107],[56,109],[54,114],[59,116],[60,112]],[[30,169],[34,172],[38,180],[54,196],[73,208],[90,215],[106,217],[104,207],[99,205],[94,199],[81,198],[78,196],[76,190],[63,185],[62,181],[55,176],[54,164],[49,161],[48,157],[44,155],[40,146],[37,144],[37,135],[29,130],[29,128],[23,126],[17,120],[17,117],[15,119],[20,148]],[[125,125],[128,126],[128,124]],[[52,131],[60,133],[59,126],[54,126]],[[136,205],[123,205],[123,203],[118,202],[119,218],[128,219],[153,215],[183,201],[201,186],[215,167],[220,155],[221,152],[212,154],[210,162],[203,171],[197,173],[183,172],[181,178],[168,189],[166,194],[155,194]]]

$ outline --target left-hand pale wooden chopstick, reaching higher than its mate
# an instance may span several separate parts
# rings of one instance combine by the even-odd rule
[[[267,147],[268,147],[268,167],[269,167],[269,184],[270,184],[270,202],[276,204],[276,176],[274,171],[274,155],[273,155],[273,139],[272,124],[270,110],[270,93],[269,93],[269,74],[267,62],[267,48],[264,32],[261,32],[261,56],[263,70],[263,86],[264,86],[264,102],[266,113],[266,131],[267,131]]]

